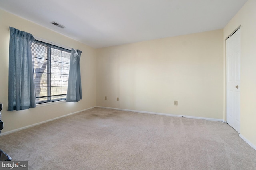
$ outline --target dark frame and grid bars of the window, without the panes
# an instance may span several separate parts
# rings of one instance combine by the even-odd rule
[[[51,51],[52,51],[52,49],[56,49],[56,50],[60,50],[61,53],[62,53],[62,51],[66,52],[66,53],[71,53],[71,50],[70,49],[66,49],[64,47],[60,47],[60,46],[54,45],[54,44],[46,43],[44,41],[40,41],[38,39],[35,39],[34,42],[31,45],[34,78],[35,78],[35,73],[36,73],[35,68],[34,68],[34,66],[35,66],[35,58],[42,59],[42,58],[39,58],[39,57],[35,57],[34,47],[33,47],[33,50],[32,50],[32,46],[35,43],[38,44],[38,45],[42,45],[42,46],[47,47],[47,59],[46,59],[47,60],[47,96],[36,96],[36,104],[46,104],[46,103],[66,100],[66,93],[63,94],[63,87],[67,88],[68,85],[63,85],[63,80],[64,80],[63,77],[69,76],[68,75],[69,72],[68,72],[68,74],[63,74],[62,68],[63,68],[63,63],[64,64],[69,64],[69,65],[70,65],[70,63],[69,63],[69,61],[68,61],[68,63],[63,62],[63,55],[62,55],[61,56],[62,61],[61,62],[58,61],[58,63],[61,63],[61,74],[52,73],[52,67],[51,67],[52,53],[51,53]],[[69,66],[69,68],[70,68],[70,66]],[[68,70],[69,70],[69,68],[68,68]],[[52,74],[54,74],[55,76],[58,75],[58,76],[61,77],[61,80],[59,80],[59,81],[61,81],[61,86],[52,86]],[[67,79],[65,79],[65,80],[67,80]],[[55,82],[57,82],[57,81],[58,80],[55,80]],[[52,87],[61,87],[61,94],[53,95],[52,92],[51,92],[51,88]],[[52,97],[61,97],[61,98],[55,98],[54,99]],[[47,98],[47,100],[38,101],[37,99],[39,99],[39,98]]]

